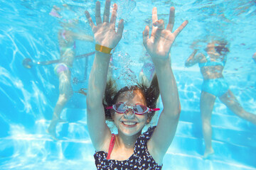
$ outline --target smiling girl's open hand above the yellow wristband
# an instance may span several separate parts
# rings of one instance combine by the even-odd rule
[[[94,33],[96,44],[109,48],[116,47],[117,43],[122,38],[122,32],[124,30],[124,20],[121,19],[118,23],[117,32],[115,31],[115,22],[117,18],[117,4],[114,4],[112,16],[110,18],[110,0],[106,0],[103,21],[100,17],[99,1],[96,2],[95,10],[97,26],[95,26],[95,23],[92,22],[92,18],[90,17],[90,13],[88,11],[85,11],[85,15],[88,22],[90,23],[92,32]]]

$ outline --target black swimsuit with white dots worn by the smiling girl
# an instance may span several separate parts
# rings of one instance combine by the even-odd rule
[[[100,151],[96,152],[95,164],[97,169],[107,170],[107,169],[118,169],[118,170],[131,170],[131,169],[161,169],[162,166],[157,164],[153,157],[149,154],[146,147],[146,142],[150,139],[152,133],[154,132],[154,127],[150,127],[146,132],[138,137],[134,145],[134,153],[129,159],[124,161],[117,161],[113,159],[107,159],[107,153]],[[111,145],[111,143],[110,143]]]

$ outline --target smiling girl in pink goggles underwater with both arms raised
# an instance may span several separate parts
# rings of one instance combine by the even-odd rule
[[[97,1],[96,25],[88,11],[85,11],[96,42],[95,60],[87,91],[87,126],[96,150],[97,169],[162,167],[164,155],[174,139],[181,113],[169,52],[176,36],[188,23],[184,21],[172,33],[174,11],[174,7],[171,7],[169,23],[164,28],[164,21],[157,18],[157,9],[153,8],[151,37],[149,38],[149,26],[146,26],[143,32],[144,46],[154,63],[157,78],[154,76],[149,87],[143,84],[126,86],[119,91],[113,88],[112,81],[107,81],[111,52],[122,38],[124,29],[124,21],[121,19],[117,32],[115,31],[117,4],[114,4],[110,18],[110,1],[106,0],[102,21],[100,2]],[[150,122],[154,112],[159,110],[155,108],[159,92],[164,110],[157,125],[142,134],[144,126]],[[107,119],[114,121],[117,135],[111,133],[106,124]]]

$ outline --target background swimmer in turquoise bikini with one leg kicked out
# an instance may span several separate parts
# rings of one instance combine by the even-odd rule
[[[209,42],[206,47],[206,55],[203,53],[196,55],[198,50],[194,50],[185,62],[186,67],[198,64],[203,76],[200,98],[203,138],[206,147],[203,158],[207,158],[210,154],[214,153],[211,143],[212,128],[210,125],[210,118],[216,97],[220,98],[220,101],[240,118],[248,120],[250,123],[256,125],[256,115],[249,113],[242,108],[237,98],[235,98],[232,91],[230,91],[228,83],[223,77],[223,69],[229,52],[226,45],[227,42]]]

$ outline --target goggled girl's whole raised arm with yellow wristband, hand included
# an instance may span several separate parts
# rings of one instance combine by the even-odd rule
[[[115,22],[117,18],[117,4],[114,4],[110,18],[110,0],[105,2],[103,21],[100,16],[100,2],[96,2],[95,23],[90,13],[85,11],[95,37],[95,60],[90,72],[87,91],[87,126],[96,151],[107,151],[110,144],[111,132],[105,123],[105,110],[102,105],[103,94],[107,81],[107,69],[110,63],[110,51],[117,46],[122,38],[123,20],[118,23],[117,32]],[[107,143],[108,142],[108,143]]]

